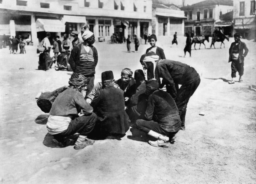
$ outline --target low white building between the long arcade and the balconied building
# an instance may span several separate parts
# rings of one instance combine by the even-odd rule
[[[184,11],[175,5],[152,5],[152,33],[157,36],[184,35]]]

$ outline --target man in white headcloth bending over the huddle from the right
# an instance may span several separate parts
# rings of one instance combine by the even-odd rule
[[[200,76],[195,68],[182,62],[169,59],[158,59],[156,55],[145,55],[145,63],[156,62],[155,76],[160,88],[166,85],[166,91],[175,99],[180,112],[181,130],[185,130],[186,107],[189,98],[193,95],[200,84]],[[161,81],[162,79],[162,81]],[[181,87],[179,88],[179,85]]]

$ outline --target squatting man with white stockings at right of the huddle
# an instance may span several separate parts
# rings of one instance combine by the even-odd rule
[[[148,95],[145,120],[138,119],[137,128],[157,138],[157,141],[149,141],[150,145],[168,147],[168,141],[180,130],[181,125],[175,101],[169,93],[159,90],[157,79],[146,82],[145,94]]]

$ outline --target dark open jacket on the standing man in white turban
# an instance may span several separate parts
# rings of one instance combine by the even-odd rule
[[[90,65],[88,65],[88,63],[81,63],[80,62],[80,53],[81,53],[82,44],[83,43],[80,43],[72,49],[68,62],[70,64],[70,67],[72,68],[73,72],[76,72],[78,74],[83,74],[84,76],[94,75],[95,67],[98,63],[97,49],[95,47],[93,47],[93,45],[91,46],[91,49],[93,50],[94,62],[90,63]],[[77,69],[77,67],[78,67],[78,69]]]

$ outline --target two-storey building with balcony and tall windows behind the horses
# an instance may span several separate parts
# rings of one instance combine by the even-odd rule
[[[211,36],[215,27],[222,29],[224,34],[232,36],[233,23],[232,16],[229,20],[226,17],[233,11],[233,1],[231,0],[205,0],[191,6],[181,8],[185,12],[185,33],[194,32],[194,36]],[[223,16],[226,14],[226,16]],[[222,18],[225,17],[225,20]]]

